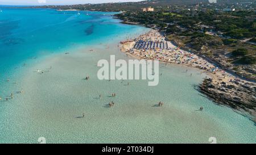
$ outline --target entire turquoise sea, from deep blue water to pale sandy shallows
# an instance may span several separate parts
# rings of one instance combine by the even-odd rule
[[[256,143],[253,122],[195,89],[204,77],[196,69],[160,65],[155,87],[97,79],[97,61],[128,60],[118,41],[146,28],[121,24],[112,12],[0,10],[0,97],[14,93],[0,102],[0,143]],[[49,73],[34,72],[49,66]],[[164,107],[154,107],[160,100]]]

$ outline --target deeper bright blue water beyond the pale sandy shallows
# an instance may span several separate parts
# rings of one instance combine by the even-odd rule
[[[0,12],[1,72],[37,55],[56,52],[79,43],[92,44],[106,36],[134,27],[117,24],[113,13],[35,9],[8,9]]]

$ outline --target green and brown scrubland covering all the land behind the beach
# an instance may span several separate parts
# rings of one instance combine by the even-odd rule
[[[154,12],[142,11],[142,8],[150,6],[154,7]],[[151,0],[34,7],[122,11],[114,16],[122,19],[123,23],[138,23],[158,29],[166,34],[167,40],[204,55],[223,68],[239,69],[248,73],[247,76],[255,73],[255,56],[245,56],[256,51],[255,3],[245,5],[241,0],[222,0],[217,3],[209,3],[208,0]],[[236,8],[236,11],[222,11],[225,8]],[[228,57],[235,58],[234,63],[225,61]]]

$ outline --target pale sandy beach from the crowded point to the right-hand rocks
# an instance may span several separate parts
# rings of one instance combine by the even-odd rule
[[[166,46],[168,45],[168,48],[134,48],[138,44],[138,40],[145,41],[145,44],[147,43],[147,41],[152,41],[154,43],[163,42],[163,44],[166,44]],[[230,98],[236,98],[238,93],[240,93],[238,95],[238,97],[240,97],[240,100],[246,99],[249,93],[251,98],[250,100],[246,100],[246,102],[248,101],[248,104],[253,104],[256,100],[253,93],[251,95],[251,92],[241,93],[234,90],[234,87],[237,88],[237,90],[239,90],[239,88],[241,88],[241,85],[246,85],[247,89],[250,91],[255,88],[255,83],[245,81],[239,78],[238,76],[229,74],[225,72],[225,70],[222,70],[218,68],[216,65],[211,64],[204,58],[199,57],[190,51],[184,51],[183,49],[180,49],[171,41],[167,41],[166,37],[158,30],[151,30],[137,37],[134,40],[121,41],[120,44],[122,52],[125,52],[127,53],[127,55],[138,59],[159,60],[160,62],[163,62],[165,64],[176,64],[188,66],[190,68],[200,69],[201,74],[207,74],[207,77],[205,77],[205,79],[210,78],[210,83],[218,87],[218,89],[207,88],[207,91],[216,91],[217,93],[226,96],[231,96]],[[146,46],[144,45],[144,47]],[[191,74],[190,76],[193,75]],[[221,92],[219,89],[225,86],[232,86],[233,89],[222,89],[224,90],[224,92]],[[206,94],[208,94],[208,92]],[[255,122],[255,110],[243,110],[242,108],[237,108],[237,110],[243,112],[246,111],[245,113],[249,112],[249,115],[252,116],[251,120],[254,120]]]

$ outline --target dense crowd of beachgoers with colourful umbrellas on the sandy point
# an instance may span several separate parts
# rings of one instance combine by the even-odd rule
[[[142,42],[139,42],[140,44],[138,44],[138,41],[141,40],[147,41],[146,43],[149,43],[149,48],[147,48],[147,44],[144,44],[145,48],[138,48],[144,47]],[[150,48],[150,41],[154,43],[159,43],[162,41],[162,43],[166,43],[165,47],[168,48]],[[164,36],[158,30],[151,30],[143,35],[140,35],[137,39],[122,41],[121,44],[121,51],[129,53],[130,56],[135,56],[139,59],[159,60],[165,62],[166,65],[170,63],[198,68],[203,70],[204,73],[209,73],[211,77],[215,78],[216,82],[229,82],[236,78],[218,68],[216,65],[211,64],[203,57],[199,57],[193,54],[191,51],[185,51],[179,48],[172,41],[167,41],[166,36]],[[192,73],[190,76],[192,77]]]

